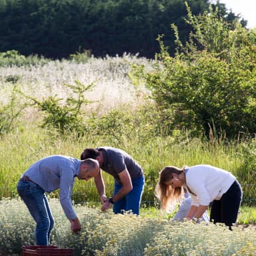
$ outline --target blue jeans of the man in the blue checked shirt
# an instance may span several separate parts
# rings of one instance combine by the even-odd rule
[[[49,245],[54,219],[45,191],[31,181],[19,181],[17,191],[37,223],[35,241],[37,245]]]

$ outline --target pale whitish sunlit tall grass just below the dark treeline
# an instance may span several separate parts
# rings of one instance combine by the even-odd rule
[[[17,76],[21,91],[37,99],[55,94],[66,99],[71,90],[65,85],[78,80],[85,85],[95,84],[93,90],[87,92],[87,99],[97,101],[93,105],[97,111],[105,113],[122,103],[131,103],[135,107],[140,102],[137,96],[143,97],[147,91],[143,86],[135,88],[131,83],[127,75],[131,63],[140,63],[150,69],[152,61],[124,54],[121,57],[91,57],[87,63],[63,59],[38,66],[0,67],[0,101],[7,103],[11,93],[13,84],[6,81],[7,77]],[[99,108],[99,103],[104,107]]]

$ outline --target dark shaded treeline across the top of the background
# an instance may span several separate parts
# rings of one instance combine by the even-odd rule
[[[198,15],[210,1],[187,2]],[[225,21],[239,18],[224,4],[216,6]],[[186,15],[183,0],[0,0],[0,52],[60,59],[86,50],[96,57],[127,52],[152,58],[159,52],[155,39],[163,34],[173,54],[170,25],[175,23],[186,41],[191,30]]]

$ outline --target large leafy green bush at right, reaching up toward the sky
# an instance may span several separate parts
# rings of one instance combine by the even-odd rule
[[[171,57],[161,37],[161,53],[154,72],[146,73],[146,84],[159,109],[171,113],[170,129],[189,129],[194,135],[209,132],[235,137],[255,133],[256,34],[239,23],[234,29],[210,9],[195,17],[189,41],[179,41],[172,25],[177,53]],[[198,46],[199,45],[199,46]],[[163,112],[164,113],[164,112]]]

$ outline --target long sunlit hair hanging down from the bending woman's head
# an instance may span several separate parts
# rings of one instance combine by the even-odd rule
[[[171,185],[166,185],[167,181],[173,179],[173,173],[177,175],[183,173],[185,167],[179,169],[174,166],[165,166],[159,173],[159,181],[155,187],[155,196],[161,202],[161,209],[170,213],[173,211],[183,198],[183,188],[182,187],[171,187]]]

